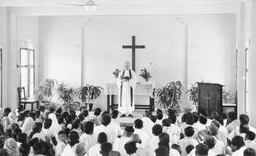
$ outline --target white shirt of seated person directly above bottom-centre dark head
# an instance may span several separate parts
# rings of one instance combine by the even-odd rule
[[[125,150],[125,143],[130,142],[131,138],[130,137],[121,137],[121,138],[117,138],[114,142],[113,142],[113,151],[119,151],[119,153],[122,156],[128,156],[128,154],[126,153]]]

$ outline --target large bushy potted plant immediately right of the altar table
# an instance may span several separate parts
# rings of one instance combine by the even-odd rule
[[[180,81],[166,84],[161,89],[156,90],[156,96],[160,105],[165,108],[176,107],[179,105],[181,97],[183,95],[183,84]]]

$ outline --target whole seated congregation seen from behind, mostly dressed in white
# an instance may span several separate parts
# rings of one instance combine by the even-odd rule
[[[119,112],[96,109],[64,112],[49,107],[14,112],[5,108],[0,121],[2,156],[255,156],[255,129],[246,114],[164,115],[146,111],[133,126],[121,127]],[[166,118],[165,118],[166,116]],[[237,120],[238,121],[238,120]],[[233,130],[230,130],[230,127]],[[228,138],[228,139],[227,139]]]

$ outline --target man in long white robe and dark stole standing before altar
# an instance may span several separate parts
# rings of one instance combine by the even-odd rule
[[[125,61],[124,67],[125,69],[119,72],[117,79],[117,86],[119,87],[119,112],[122,114],[121,117],[125,117],[128,114],[132,118],[137,78],[136,73],[130,69],[129,61]]]

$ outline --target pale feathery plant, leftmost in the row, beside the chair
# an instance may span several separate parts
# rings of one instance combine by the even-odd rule
[[[35,98],[45,104],[51,104],[56,84],[57,81],[55,79],[46,79],[38,84],[35,88]]]

